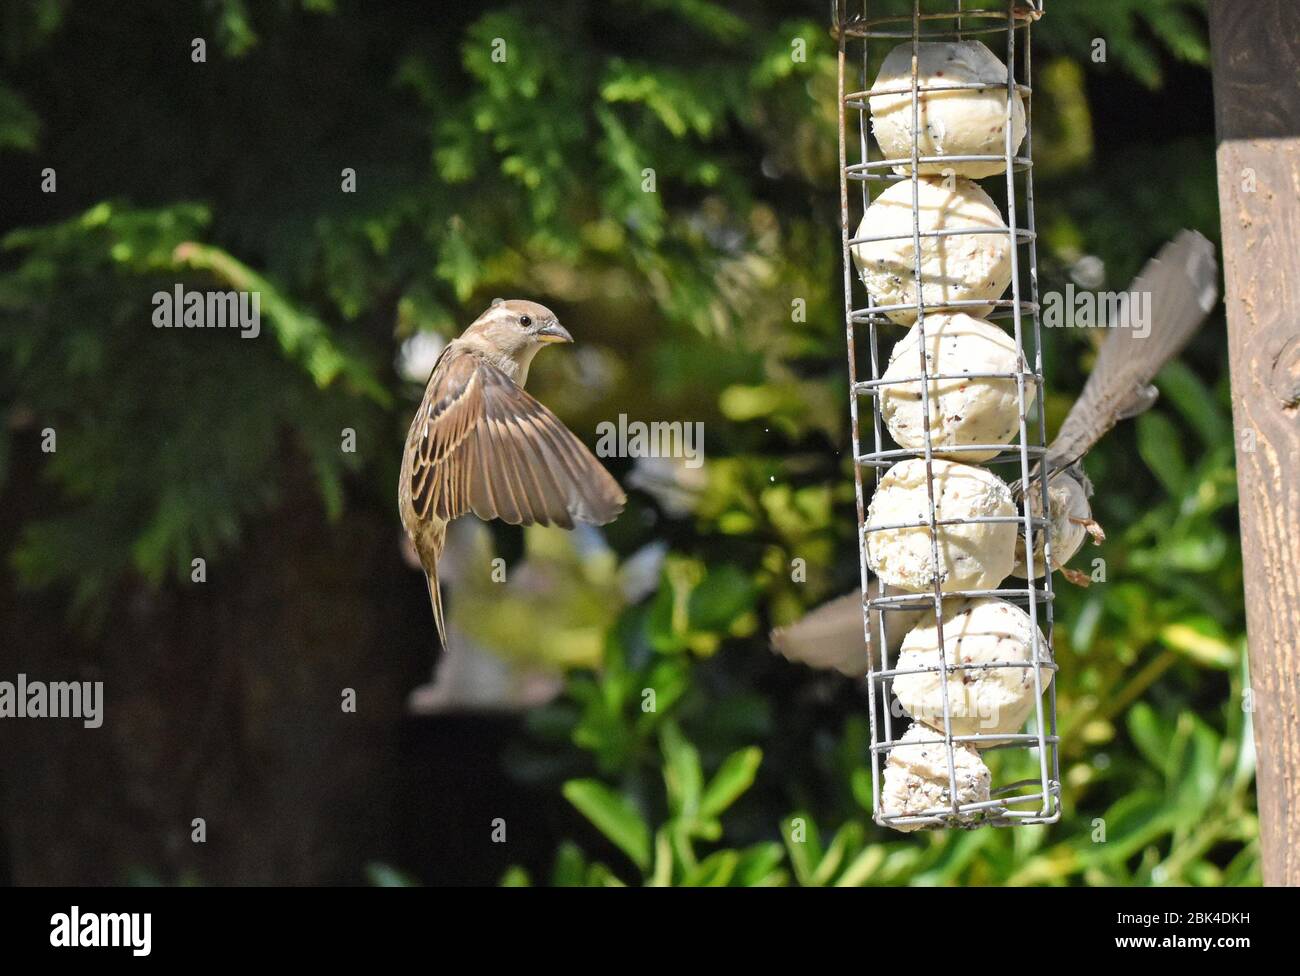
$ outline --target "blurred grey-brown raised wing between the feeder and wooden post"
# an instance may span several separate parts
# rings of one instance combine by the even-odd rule
[[[1150,381],[1218,300],[1214,246],[1195,230],[1180,231],[1147,263],[1128,292],[1150,295],[1150,330],[1109,330],[1092,376],[1048,447],[1049,473],[1079,460],[1115,424],[1156,402]]]

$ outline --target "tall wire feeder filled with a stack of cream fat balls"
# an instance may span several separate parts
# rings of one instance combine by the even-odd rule
[[[975,1],[967,0],[963,9],[961,0],[913,0],[910,10],[905,0],[833,3],[854,485],[863,628],[871,649],[872,807],[878,824],[904,830],[1041,824],[1061,814],[1052,539],[1044,517],[1049,504],[1044,480],[1035,478],[1046,429],[1030,32],[1043,16],[1043,0],[988,0],[979,9]],[[996,83],[975,64],[993,52],[994,61],[1005,60],[1005,79]],[[889,64],[905,68],[890,73]],[[949,64],[953,70],[945,74]],[[980,96],[972,101],[974,114],[945,117],[953,107],[966,110],[958,103],[966,92]],[[989,97],[1001,118],[976,133],[976,123],[993,110]],[[885,108],[893,113],[888,120]],[[906,135],[901,151],[898,133]],[[980,138],[988,140],[988,133],[1000,144],[966,151]],[[884,194],[897,204],[902,226],[878,217],[887,213],[881,208],[867,216]],[[996,205],[1005,220],[972,218],[988,208],[980,203],[984,209],[976,212],[965,200]],[[936,208],[945,220],[936,221]],[[996,246],[1009,261],[1009,282],[997,294],[967,296],[966,257],[985,246]],[[879,253],[901,255],[906,266],[892,268]],[[998,274],[983,281],[984,265],[975,270],[979,287],[1001,282]],[[896,343],[900,325],[911,330]],[[1010,364],[998,359],[1002,353],[989,360],[996,360],[992,368],[982,365],[980,356],[963,357],[966,347],[957,342],[963,330],[978,333],[983,343],[971,348],[1006,346]],[[883,353],[892,346],[894,361],[887,369]],[[985,396],[989,390],[1000,392]],[[965,438],[952,437],[967,417],[959,411],[948,416],[944,398],[950,392],[967,404],[975,402],[971,396],[1001,396],[1010,421],[992,437],[980,438],[978,428]],[[867,450],[863,400],[871,403]],[[915,421],[918,412],[919,422],[904,429],[898,418]],[[1005,481],[994,477],[997,470]],[[997,499],[992,511],[984,504],[991,496]],[[963,508],[963,498],[976,503]],[[998,565],[980,565],[987,555],[983,539],[994,535],[1000,545],[984,548],[996,550],[992,561]],[[1002,572],[1009,538],[1023,546],[1022,556],[1041,554],[1045,569],[1039,580],[1032,578],[1039,574],[1034,555],[1023,585]],[[919,563],[901,565],[909,552],[920,552]],[[910,573],[911,585],[898,584],[898,573]],[[976,613],[976,607],[983,610]],[[994,610],[1015,626],[975,621]],[[1024,617],[1027,628],[1017,623]],[[901,620],[915,624],[894,647],[889,633],[900,633],[894,624]],[[1018,645],[1004,630],[1024,636],[1026,650],[1011,652]],[[998,710],[1008,713],[992,720],[985,715]],[[911,726],[904,733],[907,717]],[[1011,781],[992,781],[984,760],[994,752],[998,778]]]

